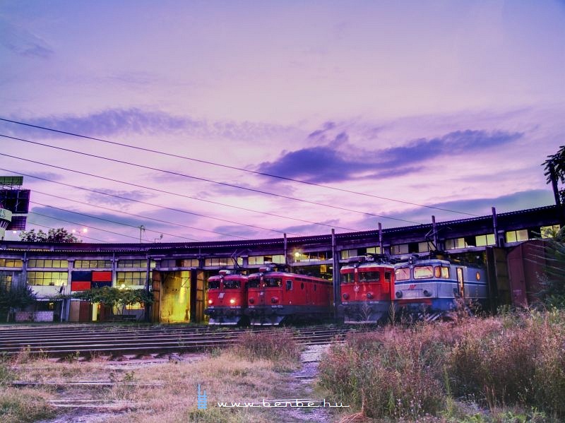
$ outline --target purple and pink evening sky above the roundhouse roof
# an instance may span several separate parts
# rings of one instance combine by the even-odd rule
[[[28,229],[104,242],[549,205],[564,70],[564,1],[4,0],[1,118],[310,184],[1,121],[114,161],[0,137],[0,175],[29,175]]]

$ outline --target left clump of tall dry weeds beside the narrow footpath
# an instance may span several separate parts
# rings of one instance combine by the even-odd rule
[[[443,345],[429,335],[417,329],[350,335],[320,363],[319,383],[367,417],[434,414],[444,405],[434,369]]]

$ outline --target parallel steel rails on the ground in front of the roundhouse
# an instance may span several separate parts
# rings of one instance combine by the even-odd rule
[[[273,328],[211,328],[206,326],[83,326],[0,330],[0,353],[26,352],[41,357],[155,357],[225,348],[238,342],[247,330]],[[276,329],[275,329],[276,330]],[[292,328],[300,345],[343,340],[350,328],[309,326]]]

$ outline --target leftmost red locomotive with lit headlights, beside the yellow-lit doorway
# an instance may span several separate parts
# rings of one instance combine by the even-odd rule
[[[208,278],[208,308],[210,325],[237,325],[246,323],[243,310],[247,303],[247,276],[220,270]]]

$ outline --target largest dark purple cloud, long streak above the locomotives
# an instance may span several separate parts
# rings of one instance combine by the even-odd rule
[[[318,138],[325,140],[326,134],[320,133]],[[439,138],[420,138],[399,147],[362,151],[354,147],[348,148],[347,133],[341,132],[328,145],[284,152],[275,162],[261,163],[258,170],[314,183],[367,179],[367,174],[364,173],[368,171],[374,171],[371,177],[394,177],[398,172],[419,172],[427,161],[436,157],[470,155],[476,151],[508,145],[521,136],[523,133],[504,131],[455,131]],[[362,173],[364,176],[357,176]]]

